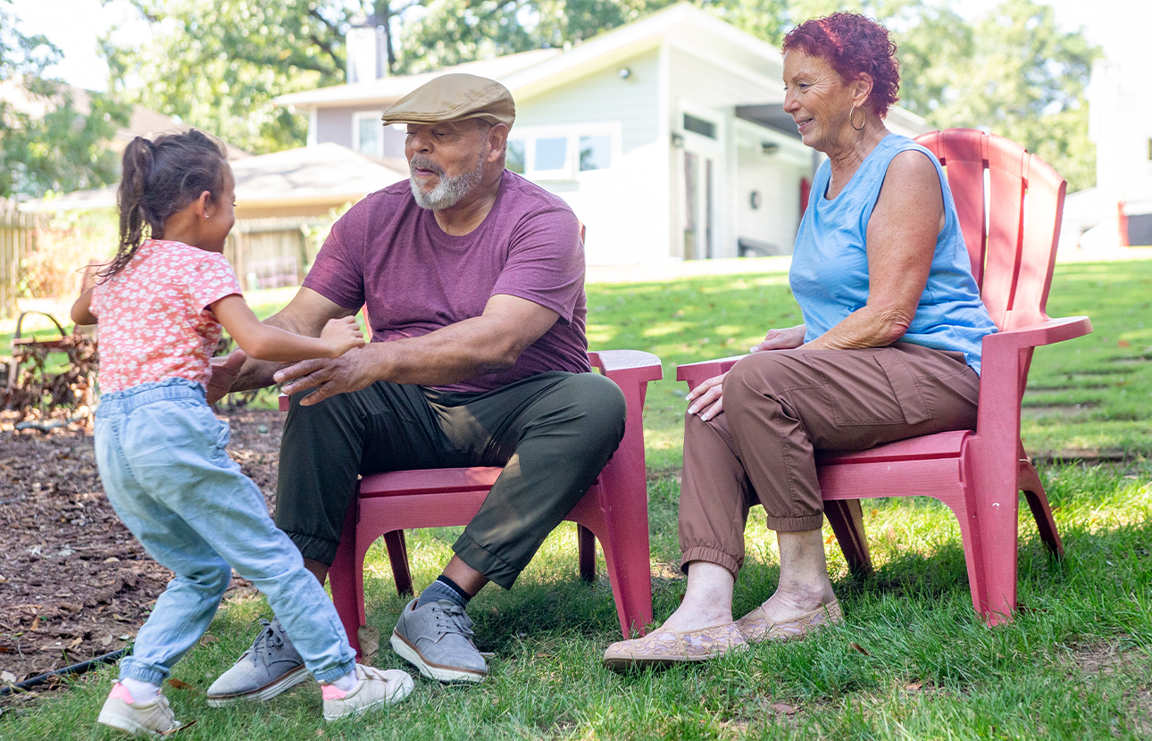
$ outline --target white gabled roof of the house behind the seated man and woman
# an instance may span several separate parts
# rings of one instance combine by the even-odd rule
[[[419,75],[384,77],[363,83],[332,85],[279,96],[273,103],[296,111],[327,107],[387,107],[430,80],[452,73],[468,73],[501,82],[517,101],[524,101],[567,84],[592,71],[609,67],[644,51],[667,43],[706,59],[721,59],[743,74],[761,83],[758,100],[741,101],[750,121],[781,128],[774,123],[772,112],[783,103],[780,77],[783,61],[780,50],[751,33],[700,10],[690,2],[679,2],[639,21],[627,23],[570,50],[543,48],[518,54],[507,54]],[[919,116],[893,106],[888,119],[901,133],[923,134],[932,129]]]

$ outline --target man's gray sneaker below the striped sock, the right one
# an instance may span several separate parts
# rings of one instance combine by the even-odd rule
[[[447,599],[419,610],[411,600],[392,632],[393,650],[420,674],[441,682],[479,682],[488,665],[472,643],[472,621],[464,608]]]

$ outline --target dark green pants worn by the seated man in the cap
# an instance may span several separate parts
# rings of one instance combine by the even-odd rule
[[[596,481],[627,416],[614,383],[560,371],[485,394],[377,383],[313,407],[301,398],[285,422],[275,520],[305,558],[332,564],[358,476],[503,466],[453,550],[505,589]]]

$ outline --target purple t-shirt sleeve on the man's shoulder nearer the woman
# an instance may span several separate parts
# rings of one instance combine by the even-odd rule
[[[524,218],[513,234],[508,262],[492,295],[525,298],[573,319],[584,293],[584,244],[576,214],[550,209]]]

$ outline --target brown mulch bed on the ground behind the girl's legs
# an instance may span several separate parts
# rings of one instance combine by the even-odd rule
[[[15,431],[15,417],[3,415],[0,685],[9,685],[128,645],[170,572],[144,552],[108,504],[90,430],[70,424],[47,433]],[[221,417],[232,424],[229,453],[271,501],[280,413]],[[234,577],[230,589],[251,585]]]

